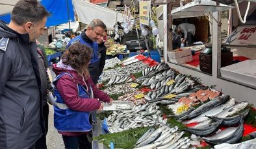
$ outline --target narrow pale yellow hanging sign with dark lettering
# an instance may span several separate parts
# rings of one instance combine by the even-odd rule
[[[140,24],[149,25],[150,1],[140,1]]]

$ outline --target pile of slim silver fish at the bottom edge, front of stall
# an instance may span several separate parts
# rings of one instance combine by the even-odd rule
[[[182,137],[184,132],[177,132],[177,126],[170,128],[169,126],[162,126],[160,128],[150,128],[140,139],[136,142],[136,149],[147,148],[188,148],[190,146],[190,139]]]

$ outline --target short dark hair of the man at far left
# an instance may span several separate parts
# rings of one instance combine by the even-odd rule
[[[29,21],[42,21],[50,13],[37,0],[20,0],[14,6],[11,19],[18,25],[23,25]]]

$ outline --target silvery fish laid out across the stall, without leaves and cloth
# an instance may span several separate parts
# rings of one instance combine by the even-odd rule
[[[186,128],[185,131],[203,137],[203,140],[211,145],[240,141],[244,132],[243,119],[248,115],[249,109],[240,114],[237,113],[246,108],[248,102],[235,104],[234,98],[229,100],[228,95],[222,95],[220,91],[199,84],[197,78],[177,73],[174,69],[170,69],[167,63],[148,67],[142,62],[134,62],[127,63],[124,67],[116,67],[119,61],[115,58],[107,62],[107,69],[101,75],[101,80],[107,82],[103,91],[109,95],[120,94],[118,100],[132,101],[135,106],[129,107],[129,110],[126,106],[120,106],[119,110],[125,110],[114,111],[106,118],[110,133],[149,126],[154,128],[149,128],[133,147],[137,149],[190,148],[190,138],[182,137],[184,132],[179,132],[177,127],[167,126],[167,119],[162,117],[159,108],[167,105],[176,113],[181,106],[187,104],[186,111],[167,115],[167,117],[175,117],[183,124],[198,123],[196,126]],[[116,68],[110,69],[113,67]],[[142,72],[143,76],[133,80],[131,73],[138,72]],[[128,82],[136,82],[139,87],[131,87],[131,83]],[[147,89],[140,91],[140,87],[151,89],[151,91],[145,93]],[[138,94],[144,94],[144,97],[135,98]],[[173,94],[176,97],[168,97]],[[198,108],[192,108],[200,103],[201,106]],[[237,124],[239,126],[236,128],[230,127],[218,131],[222,125]],[[213,133],[214,135],[211,135]],[[251,133],[250,136],[255,137],[255,134]],[[191,140],[193,140],[192,137]],[[250,146],[248,144],[248,148],[251,148],[251,144],[253,142]]]

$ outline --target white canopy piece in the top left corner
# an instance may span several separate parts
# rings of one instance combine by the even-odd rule
[[[12,9],[14,8],[14,5],[18,1],[19,0],[0,0],[0,16],[10,14],[10,12],[12,12]]]

